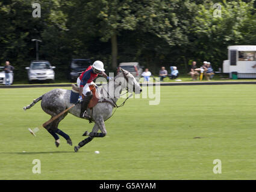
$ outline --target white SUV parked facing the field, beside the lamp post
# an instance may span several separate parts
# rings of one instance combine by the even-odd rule
[[[32,61],[28,70],[28,81],[31,83],[34,80],[54,82],[55,73],[49,61]]]

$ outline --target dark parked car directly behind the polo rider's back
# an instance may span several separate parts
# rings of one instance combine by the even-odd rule
[[[77,77],[80,76],[80,74],[90,65],[92,65],[92,61],[90,59],[72,59],[69,73],[70,81],[76,81]]]

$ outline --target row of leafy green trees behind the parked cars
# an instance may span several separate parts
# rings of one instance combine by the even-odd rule
[[[222,67],[226,47],[256,44],[254,1],[41,0],[0,2],[0,60],[11,61],[17,79],[35,58],[33,38],[42,40],[39,58],[66,78],[72,58],[101,59],[108,71],[138,61],[157,72],[176,65],[186,72],[193,60]]]

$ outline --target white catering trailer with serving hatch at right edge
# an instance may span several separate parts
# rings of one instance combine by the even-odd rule
[[[237,72],[238,78],[256,78],[256,46],[228,46],[228,60],[223,61],[223,73]]]

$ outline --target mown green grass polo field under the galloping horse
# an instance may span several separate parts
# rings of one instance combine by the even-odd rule
[[[107,136],[77,153],[62,137],[55,147],[40,103],[22,110],[51,89],[0,89],[0,179],[255,179],[255,85],[161,86],[159,105],[128,100],[105,123]],[[59,128],[77,145],[92,126],[68,115]]]

